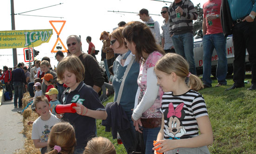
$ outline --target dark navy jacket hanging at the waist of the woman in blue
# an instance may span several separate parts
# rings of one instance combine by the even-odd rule
[[[106,105],[107,119],[102,120],[102,125],[105,126],[105,131],[110,132],[112,128],[113,139],[117,138],[118,130],[126,130],[130,128],[130,122],[123,110],[121,104],[117,102],[107,103]]]

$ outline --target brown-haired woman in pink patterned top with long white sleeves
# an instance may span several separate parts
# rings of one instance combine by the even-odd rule
[[[163,57],[164,51],[156,44],[149,27],[139,21],[127,23],[122,34],[128,48],[140,63],[132,119],[136,131],[143,133],[145,153],[153,154],[153,141],[157,139],[161,128],[160,108],[163,96],[163,90],[157,85],[154,66]]]

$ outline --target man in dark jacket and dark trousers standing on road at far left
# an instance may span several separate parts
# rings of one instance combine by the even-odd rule
[[[23,71],[24,65],[22,63],[18,64],[18,67],[13,70],[12,81],[14,86],[14,107],[17,108],[17,99],[19,96],[19,108],[22,108],[22,96],[23,96],[23,83],[26,85],[26,77]]]

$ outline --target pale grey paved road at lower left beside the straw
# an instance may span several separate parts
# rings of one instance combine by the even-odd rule
[[[22,115],[17,113],[20,108],[14,108],[13,100],[5,101],[0,106],[0,154],[13,154],[16,149],[22,149],[25,136]]]

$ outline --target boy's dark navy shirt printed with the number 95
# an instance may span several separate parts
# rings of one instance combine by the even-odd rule
[[[69,90],[69,87],[64,90],[61,104],[82,103],[88,109],[105,110],[104,105],[98,99],[98,93],[84,82],[80,82],[75,90],[70,92]],[[62,119],[74,126],[77,140],[76,149],[85,148],[87,142],[96,136],[95,118],[77,113],[65,113]]]

